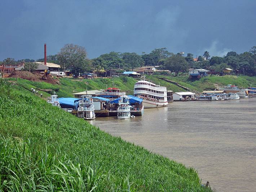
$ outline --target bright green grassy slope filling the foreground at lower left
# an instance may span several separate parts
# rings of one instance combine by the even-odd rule
[[[210,191],[193,168],[113,137],[21,86],[1,82],[0,95],[0,191]]]

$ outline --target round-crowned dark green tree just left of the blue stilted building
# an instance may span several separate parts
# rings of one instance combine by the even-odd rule
[[[164,67],[171,72],[175,72],[175,76],[177,76],[178,72],[186,71],[188,65],[184,57],[176,54],[166,59]]]

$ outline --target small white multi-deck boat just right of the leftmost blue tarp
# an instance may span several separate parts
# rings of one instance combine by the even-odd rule
[[[93,99],[91,95],[82,95],[78,102],[78,117],[82,119],[95,119]]]

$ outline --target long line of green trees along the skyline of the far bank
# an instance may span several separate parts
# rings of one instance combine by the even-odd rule
[[[44,62],[44,58],[36,61]],[[13,58],[6,58],[1,64],[17,64],[25,62],[25,70],[28,67],[31,71],[35,70],[36,64],[33,59],[22,59],[14,61]],[[75,76],[79,73],[94,72],[105,73],[106,70],[116,69],[133,71],[136,67],[159,66],[159,69],[169,70],[177,76],[178,73],[187,72],[189,68],[203,68],[222,72],[224,68],[231,68],[236,74],[256,75],[256,46],[253,46],[248,52],[237,54],[228,52],[223,57],[212,56],[205,51],[202,56],[194,59],[192,53],[186,56],[180,53],[174,54],[166,48],[154,49],[149,54],[120,53],[110,52],[102,54],[97,58],[87,58],[87,52],[84,47],[74,44],[66,44],[61,48],[58,54],[48,55],[47,62],[61,65],[62,68],[69,69]]]

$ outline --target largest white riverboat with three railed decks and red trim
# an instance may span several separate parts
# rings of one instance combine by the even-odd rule
[[[144,108],[156,108],[168,105],[166,87],[146,80],[140,80],[135,83],[134,96],[143,99]]]

